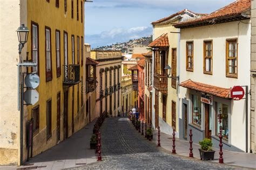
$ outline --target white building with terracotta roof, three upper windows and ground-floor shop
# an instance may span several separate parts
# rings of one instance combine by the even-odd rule
[[[239,0],[174,25],[180,29],[180,138],[192,129],[193,142],[209,138],[218,147],[222,129],[224,149],[248,152],[246,100],[233,100],[231,88],[251,86],[250,8],[250,0]]]

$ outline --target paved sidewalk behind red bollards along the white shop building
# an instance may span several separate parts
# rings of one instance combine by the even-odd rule
[[[158,143],[158,132],[153,131],[153,143]],[[172,151],[172,136],[160,133],[160,144],[167,151]],[[183,155],[185,157],[189,156],[190,153],[190,143],[189,141],[177,139],[175,141],[176,145],[176,153],[179,155]],[[200,154],[198,148],[200,148],[199,144],[193,144],[193,155],[194,158],[200,159]],[[219,148],[213,148],[215,151],[214,160],[208,160],[213,162],[219,162]],[[223,159],[225,164],[241,166],[247,168],[256,168],[256,154],[253,153],[242,153],[242,152],[233,152],[223,150]]]

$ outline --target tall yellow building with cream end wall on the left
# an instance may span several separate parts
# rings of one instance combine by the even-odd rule
[[[24,106],[23,141],[19,136],[20,114],[16,109],[16,65],[19,56],[15,31],[21,24],[25,24],[30,30],[28,42],[21,54],[23,61],[38,64],[36,68],[23,69],[23,73],[35,72],[40,77],[40,84],[36,89],[39,101],[34,105]],[[4,32],[1,34],[1,49],[5,49],[1,53],[1,70],[9,73],[8,76],[0,73],[0,165],[21,164],[27,155],[27,124],[31,118],[32,156],[70,137],[86,123],[81,93],[81,80],[84,77],[84,1],[3,0],[1,27],[5,27],[4,31],[1,30]],[[3,44],[3,41],[6,43]],[[4,99],[4,96],[11,97]]]

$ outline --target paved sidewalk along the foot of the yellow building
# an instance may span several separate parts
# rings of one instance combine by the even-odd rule
[[[95,122],[96,119],[62,143],[25,162],[24,166],[0,166],[0,169],[63,169],[96,162],[95,150],[90,150],[90,138]]]

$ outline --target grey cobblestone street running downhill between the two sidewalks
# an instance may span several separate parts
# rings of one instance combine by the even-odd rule
[[[172,155],[147,141],[127,118],[107,118],[101,128],[103,161],[75,169],[235,168]]]

